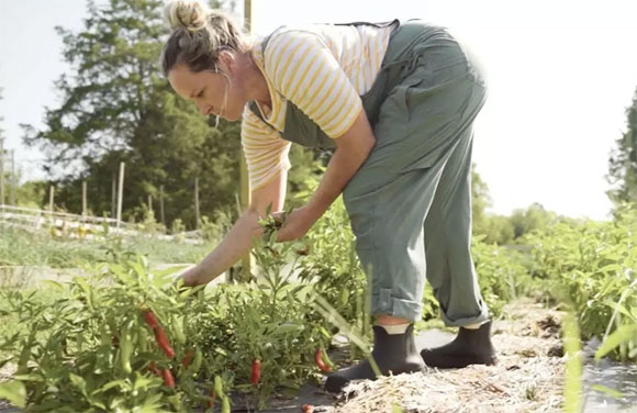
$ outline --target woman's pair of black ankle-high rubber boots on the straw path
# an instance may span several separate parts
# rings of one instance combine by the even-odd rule
[[[384,327],[373,326],[373,349],[371,351],[380,372],[387,376],[417,372],[428,367],[461,368],[469,365],[494,365],[495,349],[491,344],[491,322],[477,330],[460,327],[458,336],[449,344],[436,348],[416,350],[414,325],[409,325],[403,334],[388,334]],[[362,360],[327,376],[325,390],[339,392],[349,381],[376,379],[369,361]]]

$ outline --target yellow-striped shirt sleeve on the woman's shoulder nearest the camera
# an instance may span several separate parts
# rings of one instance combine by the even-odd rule
[[[265,63],[273,86],[327,136],[342,136],[360,113],[358,92],[318,34],[276,33],[268,42]]]

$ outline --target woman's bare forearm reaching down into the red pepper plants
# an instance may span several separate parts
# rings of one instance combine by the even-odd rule
[[[236,221],[221,244],[199,265],[181,276],[186,286],[212,281],[249,253],[254,237],[262,234],[258,220],[266,216],[268,205],[272,204],[272,212],[283,209],[287,180],[288,171],[283,169],[265,187],[252,192],[250,206]]]

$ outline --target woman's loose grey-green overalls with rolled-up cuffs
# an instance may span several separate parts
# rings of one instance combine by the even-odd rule
[[[426,276],[447,325],[480,323],[488,309],[470,252],[471,145],[484,81],[445,29],[389,24],[381,70],[361,97],[377,143],[343,192],[371,314],[420,320]],[[282,137],[335,147],[289,100]]]

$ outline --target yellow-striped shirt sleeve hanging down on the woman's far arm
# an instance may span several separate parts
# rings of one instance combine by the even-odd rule
[[[246,157],[250,190],[265,187],[281,170],[290,169],[290,142],[261,121],[246,105],[242,121],[242,147]]]

